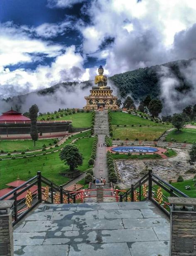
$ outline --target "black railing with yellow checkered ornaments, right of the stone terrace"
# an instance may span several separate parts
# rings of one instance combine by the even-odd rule
[[[173,187],[160,177],[152,173],[150,170],[136,184],[122,194],[121,202],[137,202],[152,201],[159,207],[168,217],[170,216],[170,208],[168,197],[188,197],[186,194]]]

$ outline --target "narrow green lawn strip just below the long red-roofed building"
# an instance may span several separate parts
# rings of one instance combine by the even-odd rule
[[[54,140],[58,139],[41,139],[36,141],[36,146],[34,147],[33,140],[0,140],[0,150],[3,150],[5,153],[13,152],[17,150],[17,152],[21,152],[22,150],[26,151],[29,148],[31,150],[37,150],[42,148],[45,144],[46,147],[49,147],[49,143],[54,145]]]

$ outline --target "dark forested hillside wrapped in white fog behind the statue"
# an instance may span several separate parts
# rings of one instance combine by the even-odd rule
[[[108,85],[122,101],[129,95],[137,105],[150,94],[152,98],[162,99],[163,115],[178,113],[184,107],[196,103],[195,70],[195,59],[170,62],[114,75],[108,79]],[[39,106],[40,112],[55,111],[58,108],[82,108],[86,103],[84,96],[90,94],[93,84],[94,81],[57,84],[0,101],[0,109],[3,112],[12,106],[26,112],[34,103]]]

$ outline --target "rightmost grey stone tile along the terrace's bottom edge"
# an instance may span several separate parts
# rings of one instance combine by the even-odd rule
[[[131,256],[169,256],[169,241],[128,243]]]

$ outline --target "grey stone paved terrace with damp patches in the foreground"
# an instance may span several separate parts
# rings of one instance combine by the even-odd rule
[[[14,228],[15,256],[169,256],[152,202],[41,204]]]

